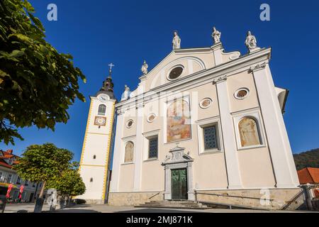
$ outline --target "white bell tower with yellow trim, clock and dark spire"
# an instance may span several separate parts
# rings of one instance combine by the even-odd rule
[[[111,63],[108,66],[108,77],[101,89],[95,96],[90,96],[79,165],[86,192],[77,196],[77,199],[85,199],[88,204],[105,204],[108,199],[116,104],[111,77],[114,65]]]

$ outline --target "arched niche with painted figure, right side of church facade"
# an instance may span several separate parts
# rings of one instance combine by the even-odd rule
[[[262,144],[259,133],[259,126],[254,118],[242,118],[242,120],[240,120],[240,122],[238,123],[238,129],[242,147]]]

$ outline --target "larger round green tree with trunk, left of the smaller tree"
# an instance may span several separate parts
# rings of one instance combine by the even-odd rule
[[[57,148],[52,143],[30,145],[18,159],[18,164],[13,165],[13,169],[22,179],[28,179],[30,182],[43,182],[39,196],[43,198],[47,183],[52,184],[50,182],[63,179],[64,173],[68,173],[70,169],[74,170],[72,169],[74,166],[71,162],[72,158],[72,152]]]

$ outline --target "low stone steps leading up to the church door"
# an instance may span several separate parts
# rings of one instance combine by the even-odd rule
[[[170,209],[210,209],[197,201],[189,200],[164,200],[164,201],[147,201],[145,204],[139,204],[135,207],[145,208],[170,208]]]

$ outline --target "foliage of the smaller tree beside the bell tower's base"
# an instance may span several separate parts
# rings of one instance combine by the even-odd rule
[[[55,188],[62,196],[78,196],[84,194],[85,184],[78,169],[67,169],[60,176],[47,182],[47,188]]]

